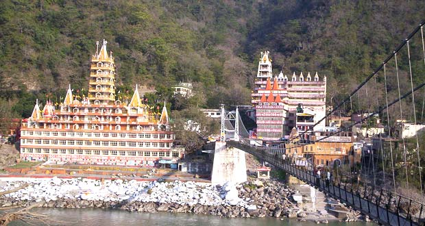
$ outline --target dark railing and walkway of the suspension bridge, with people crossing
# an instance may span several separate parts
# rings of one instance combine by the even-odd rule
[[[284,149],[270,150],[267,147],[254,147],[249,144],[227,141],[231,147],[236,147],[250,153],[260,160],[269,162],[298,179],[330,194],[363,214],[373,218],[383,225],[425,225],[424,203],[403,197],[383,188],[368,186],[362,183],[350,183],[351,177],[344,175],[331,178],[317,178],[313,168],[300,166],[293,158],[282,158]]]

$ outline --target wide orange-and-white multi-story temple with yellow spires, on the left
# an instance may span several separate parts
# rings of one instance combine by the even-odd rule
[[[47,100],[40,110],[37,101],[32,115],[23,120],[21,159],[130,166],[177,163],[183,153],[173,149],[165,106],[159,113],[144,104],[137,85],[130,102],[117,99],[114,58],[106,43],[99,50],[97,42],[88,97],[75,98],[69,86],[58,109]]]

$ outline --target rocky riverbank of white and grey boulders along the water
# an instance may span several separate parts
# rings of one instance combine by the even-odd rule
[[[278,181],[244,184],[148,182],[135,180],[35,179],[1,181],[0,192],[29,184],[5,195],[0,206],[43,202],[47,208],[119,208],[138,212],[186,212],[226,217],[306,217],[292,201],[294,190]]]

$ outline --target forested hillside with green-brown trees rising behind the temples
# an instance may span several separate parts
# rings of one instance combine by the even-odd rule
[[[179,103],[174,109],[250,103],[265,49],[276,73],[327,75],[337,100],[424,15],[425,1],[3,0],[0,103],[28,116],[37,97],[86,88],[101,39],[116,58],[119,90],[156,88],[152,100]],[[169,89],[183,80],[197,92],[185,103]]]

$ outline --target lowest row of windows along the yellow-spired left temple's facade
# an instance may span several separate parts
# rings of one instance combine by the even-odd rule
[[[77,154],[77,155],[120,155],[120,156],[147,156],[147,157],[173,157],[178,158],[178,151],[101,151],[81,149],[32,149],[23,148],[22,153],[45,153],[45,154]]]

